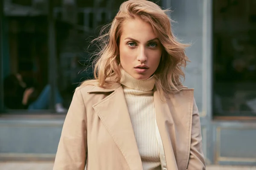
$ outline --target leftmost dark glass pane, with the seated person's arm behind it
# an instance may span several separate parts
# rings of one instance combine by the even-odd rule
[[[4,6],[4,107],[20,113],[47,110],[50,97],[47,15],[36,12],[32,1],[12,2]],[[27,13],[32,10],[33,14]]]

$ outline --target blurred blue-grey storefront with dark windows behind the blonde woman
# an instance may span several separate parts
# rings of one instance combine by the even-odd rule
[[[195,88],[207,164],[256,165],[256,0],[152,1],[191,43],[184,84]],[[73,92],[93,78],[90,40],[122,2],[0,0],[0,169],[52,166]]]

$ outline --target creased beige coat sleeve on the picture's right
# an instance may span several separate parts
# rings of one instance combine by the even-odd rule
[[[202,135],[198,107],[193,103],[191,146],[187,170],[205,170],[205,160],[202,149]]]

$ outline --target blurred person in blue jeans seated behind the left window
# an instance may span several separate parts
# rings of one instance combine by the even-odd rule
[[[27,86],[20,74],[11,74],[4,79],[4,103],[8,109],[45,110],[49,108],[51,87],[47,85],[39,94],[36,87]],[[55,91],[55,110],[63,113],[62,98]]]

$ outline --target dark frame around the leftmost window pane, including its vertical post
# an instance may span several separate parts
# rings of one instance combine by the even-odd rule
[[[3,100],[3,38],[0,38],[0,113],[6,114],[6,115],[42,115],[42,114],[51,114],[56,113],[54,108],[55,103],[55,89],[57,88],[57,69],[56,69],[56,40],[55,40],[55,19],[53,16],[53,10],[54,10],[54,3],[52,0],[47,1],[47,18],[48,18],[48,82],[51,88],[51,94],[50,94],[50,102],[49,102],[49,109],[48,110],[35,110],[35,111],[25,111],[25,110],[7,110],[4,108],[4,100]],[[4,14],[4,3],[2,0],[0,0],[0,37],[3,37],[3,18],[5,17]],[[66,113],[58,113],[58,114],[66,114]]]

